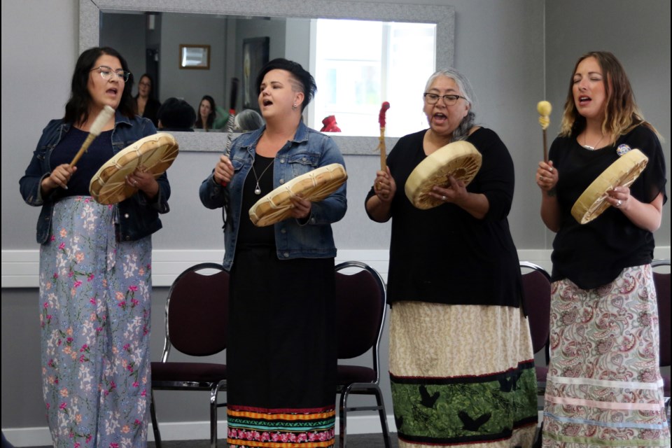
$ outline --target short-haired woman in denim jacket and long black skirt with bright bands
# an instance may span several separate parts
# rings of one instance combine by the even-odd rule
[[[274,447],[330,447],[335,440],[336,247],[345,183],[321,202],[292,197],[290,218],[255,227],[248,216],[262,195],[343,157],[330,137],[302,123],[314,78],[287,59],[257,77],[266,125],[242,134],[200,188],[205,207],[230,205],[225,256],[230,269],[228,444],[247,447],[265,434]],[[291,423],[289,423],[291,422]]]

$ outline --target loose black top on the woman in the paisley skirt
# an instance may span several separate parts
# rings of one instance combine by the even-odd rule
[[[613,162],[621,151],[637,148],[648,158],[646,169],[630,186],[630,194],[645,203],[665,194],[665,160],[654,132],[638,126],[616,143],[589,150],[576,137],[558,137],[549,158],[558,169],[556,186],[561,211],[560,230],[553,241],[552,279],[570,279],[580,288],[591,289],[613,281],[625,267],[650,263],[653,234],[634,225],[619,209],[609,207],[587,224],[578,223],[571,209],[584,190]]]

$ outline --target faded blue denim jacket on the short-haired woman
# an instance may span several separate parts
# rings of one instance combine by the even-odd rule
[[[236,240],[241,218],[249,219],[248,210],[241,210],[245,179],[252,169],[255,148],[266,128],[243,134],[232,145],[230,159],[235,173],[228,186],[215,183],[212,175],[200,187],[201,202],[209,209],[224,206],[229,201],[224,229],[224,268],[230,269],[236,250]],[[277,188],[296,176],[318,167],[340,163],[343,156],[330,137],[309,129],[300,123],[294,139],[278,151],[273,162],[273,187]],[[345,165],[344,165],[345,166]],[[274,224],[276,253],[280,260],[290,258],[332,258],[336,246],[331,223],[339,221],[347,209],[345,183],[320,202],[313,202],[306,223],[290,218]]]

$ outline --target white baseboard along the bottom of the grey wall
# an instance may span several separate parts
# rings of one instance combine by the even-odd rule
[[[189,421],[161,423],[161,440],[209,440],[209,421]],[[387,426],[395,432],[394,417],[387,416]],[[51,436],[46,426],[39,428],[3,428],[7,440],[15,447],[36,447],[50,445]],[[339,434],[339,419],[336,418],[336,433]],[[377,415],[358,415],[348,417],[348,435],[381,433],[380,420]],[[220,420],[217,426],[218,439],[226,438],[226,421]],[[154,431],[151,423],[148,428],[148,440],[154,441]]]

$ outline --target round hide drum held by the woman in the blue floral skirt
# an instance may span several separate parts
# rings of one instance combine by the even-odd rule
[[[127,175],[144,167],[156,179],[172,165],[178,153],[177,141],[166,132],[139,139],[100,167],[91,179],[89,192],[100,204],[117,204],[138,190],[126,184]]]

